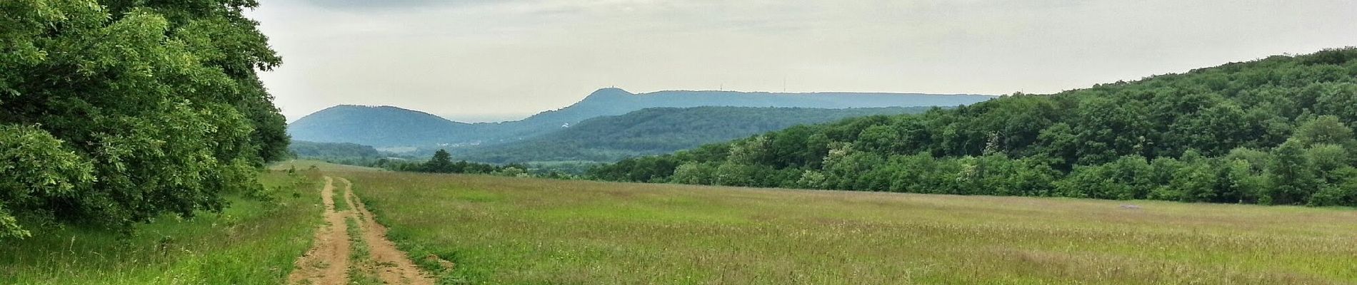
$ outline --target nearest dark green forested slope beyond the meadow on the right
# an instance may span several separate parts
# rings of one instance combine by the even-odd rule
[[[1357,49],[1276,55],[598,167],[601,180],[1357,205]]]

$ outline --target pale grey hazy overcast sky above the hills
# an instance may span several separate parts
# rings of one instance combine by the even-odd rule
[[[289,120],[525,116],[619,86],[1052,93],[1357,46],[1353,0],[269,0]],[[786,85],[784,85],[786,82]]]

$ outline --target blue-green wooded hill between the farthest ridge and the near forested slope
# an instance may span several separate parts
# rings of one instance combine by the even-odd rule
[[[588,119],[569,128],[498,146],[460,149],[460,159],[509,163],[541,161],[613,162],[627,157],[665,154],[704,143],[726,142],[852,116],[920,113],[911,108],[649,108],[620,116]]]

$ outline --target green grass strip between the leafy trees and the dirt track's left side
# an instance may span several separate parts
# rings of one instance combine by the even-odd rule
[[[166,216],[130,236],[66,227],[0,240],[0,284],[282,284],[320,223],[320,177],[261,181],[275,203],[229,197],[220,215]]]

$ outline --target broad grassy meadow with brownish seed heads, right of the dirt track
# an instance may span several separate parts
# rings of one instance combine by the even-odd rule
[[[1357,282],[1346,208],[341,176],[444,284]]]

